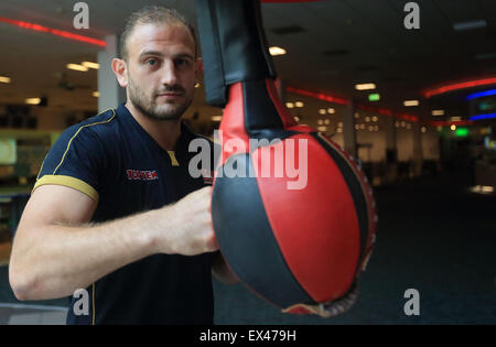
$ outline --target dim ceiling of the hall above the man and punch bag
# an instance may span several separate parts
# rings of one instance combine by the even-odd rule
[[[0,17],[80,33],[96,39],[118,33],[125,19],[144,4],[165,4],[195,22],[194,0],[87,0],[89,29],[73,28],[68,0],[2,0]],[[424,99],[421,91],[445,83],[496,76],[495,0],[418,0],[420,29],[407,30],[403,0],[324,0],[302,3],[263,3],[262,14],[270,45],[287,54],[274,63],[283,83],[370,104],[357,83],[373,82],[381,100],[370,105],[432,119],[430,111],[444,108],[446,116],[467,116],[467,91]],[[487,26],[456,32],[453,23],[484,19]],[[284,31],[293,33],[282,34]],[[96,72],[78,73],[67,63],[96,61],[99,47],[0,23],[1,104],[22,104],[28,97],[48,95],[61,108],[96,109]],[[65,75],[65,76],[64,76]],[[67,90],[62,86],[73,86]],[[471,90],[473,91],[473,90]],[[201,94],[203,95],[203,94]],[[406,108],[406,99],[420,99]],[[204,102],[201,98],[195,102]]]

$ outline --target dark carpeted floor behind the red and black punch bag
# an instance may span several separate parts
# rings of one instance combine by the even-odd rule
[[[496,196],[468,185],[450,174],[376,189],[377,243],[349,312],[327,319],[282,314],[240,284],[214,281],[216,324],[496,324]],[[420,293],[419,316],[403,313],[407,289]],[[0,303],[19,303],[7,267]]]

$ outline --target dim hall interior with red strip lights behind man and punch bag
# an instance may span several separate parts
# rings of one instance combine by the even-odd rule
[[[15,299],[12,239],[62,131],[125,101],[110,62],[126,18],[163,4],[196,19],[194,0],[76,3],[0,3],[0,324],[65,324],[67,299]],[[215,323],[495,324],[496,1],[261,9],[283,101],[359,162],[377,202],[377,242],[345,314],[285,314],[241,284],[213,280]],[[223,109],[206,104],[203,77],[195,87],[183,119],[213,138]]]

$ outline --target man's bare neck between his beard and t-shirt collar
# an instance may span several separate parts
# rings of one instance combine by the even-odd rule
[[[175,142],[181,135],[181,119],[152,119],[144,116],[132,105],[132,102],[127,101],[125,106],[141,128],[143,128],[162,149],[166,151],[174,150]]]

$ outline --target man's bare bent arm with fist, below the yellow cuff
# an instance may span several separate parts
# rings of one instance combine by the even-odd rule
[[[215,251],[211,192],[203,188],[174,205],[88,225],[94,199],[65,186],[40,186],[25,206],[12,247],[9,279],[15,296],[68,296],[150,254]]]

